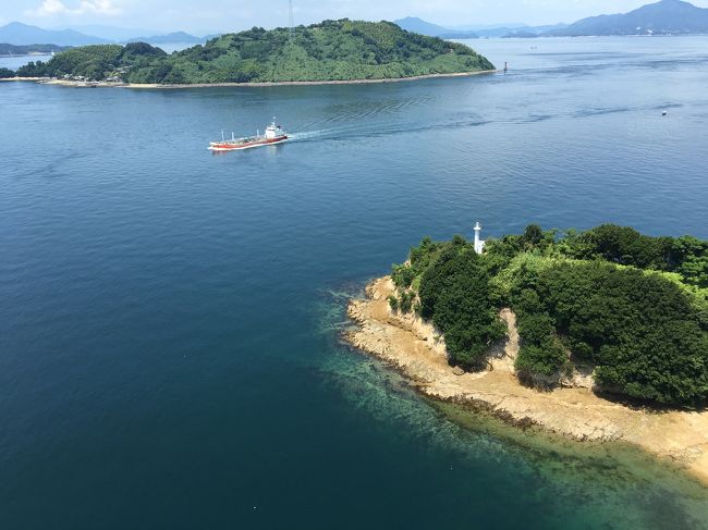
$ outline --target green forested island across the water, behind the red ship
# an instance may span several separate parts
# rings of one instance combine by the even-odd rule
[[[145,42],[74,48],[30,62],[20,77],[194,85],[392,79],[493,70],[467,46],[389,22],[325,21],[253,28],[171,54]]]

